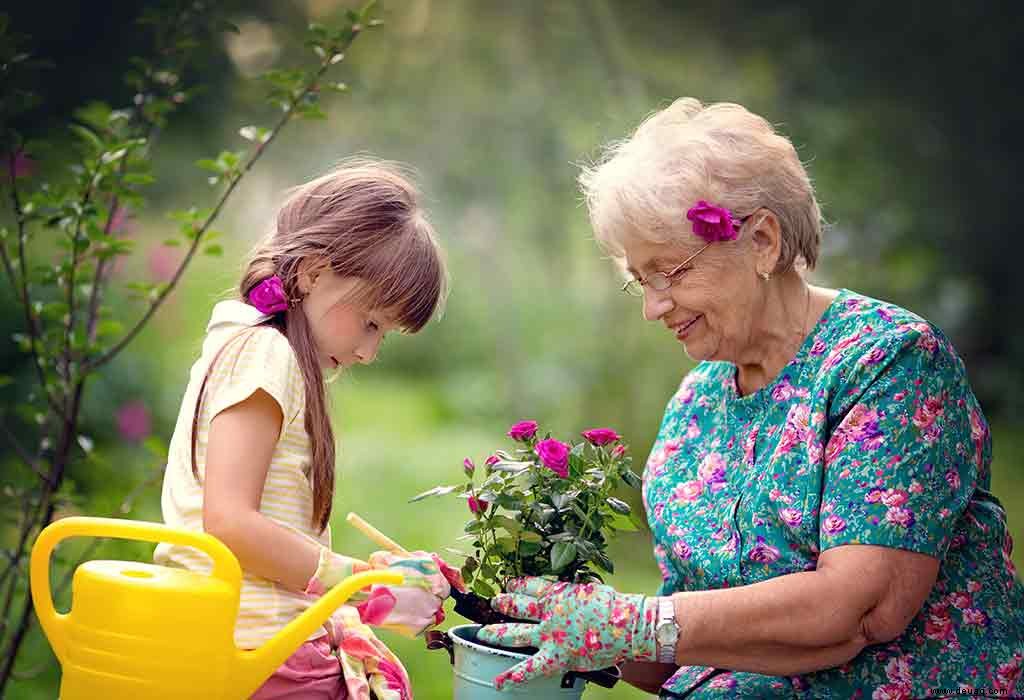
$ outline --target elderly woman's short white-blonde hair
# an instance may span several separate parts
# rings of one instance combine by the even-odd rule
[[[598,244],[620,261],[628,236],[694,235],[686,211],[706,200],[737,218],[762,207],[775,214],[782,250],[774,271],[817,262],[821,212],[807,171],[790,139],[739,104],[677,99],[609,144],[580,184]]]

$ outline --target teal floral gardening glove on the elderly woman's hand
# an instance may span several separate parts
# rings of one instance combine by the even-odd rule
[[[495,688],[542,675],[596,670],[621,661],[657,658],[657,599],[617,593],[598,583],[565,583],[537,576],[517,578],[492,607],[540,624],[492,624],[477,639],[502,647],[537,647],[530,658],[495,677]]]

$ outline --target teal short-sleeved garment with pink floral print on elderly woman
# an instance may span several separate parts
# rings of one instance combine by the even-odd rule
[[[988,425],[945,336],[843,290],[772,383],[739,396],[734,376],[728,362],[689,373],[647,461],[659,594],[813,570],[856,543],[935,557],[938,580],[901,637],[842,666],[787,677],[683,666],[663,695],[1024,694],[1024,585],[989,492]]]

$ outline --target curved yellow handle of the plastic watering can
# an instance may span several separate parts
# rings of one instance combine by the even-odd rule
[[[63,663],[67,646],[66,624],[68,615],[53,608],[50,592],[50,553],[68,537],[118,537],[145,542],[169,542],[195,546],[213,560],[211,575],[227,581],[238,588],[242,584],[242,568],[231,551],[219,539],[204,532],[179,530],[161,523],[147,523],[118,518],[62,518],[39,533],[32,548],[30,586],[36,615],[49,639],[57,659]]]

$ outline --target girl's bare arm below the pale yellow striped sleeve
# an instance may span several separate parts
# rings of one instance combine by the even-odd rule
[[[203,528],[245,571],[303,590],[321,548],[259,511],[284,414],[262,389],[217,413],[210,425],[203,485]]]

